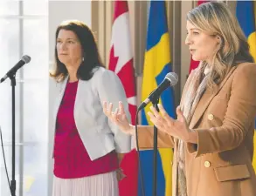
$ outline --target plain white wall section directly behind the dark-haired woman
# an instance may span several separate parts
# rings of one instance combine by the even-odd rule
[[[49,1],[49,68],[54,62],[55,30],[63,20],[77,19],[83,21],[91,27],[91,1]],[[52,141],[52,107],[56,97],[56,84],[50,79],[49,82],[49,141]],[[49,150],[52,149],[52,143],[49,144]],[[49,151],[48,164],[48,195],[52,195],[52,152]]]

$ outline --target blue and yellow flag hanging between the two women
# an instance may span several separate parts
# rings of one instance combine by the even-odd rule
[[[171,71],[170,37],[168,33],[165,1],[151,1],[149,8],[147,48],[145,51],[142,100],[163,82]],[[174,93],[172,88],[163,91],[159,103],[172,118],[175,117]],[[149,105],[142,110],[142,125],[152,125],[147,115]],[[153,150],[141,152],[142,174],[145,193],[152,196],[153,187]],[[159,149],[157,153],[157,195],[171,195],[172,149]],[[138,195],[142,195],[139,181]]]

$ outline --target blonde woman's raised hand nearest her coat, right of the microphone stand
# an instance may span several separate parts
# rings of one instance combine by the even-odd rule
[[[176,108],[177,119],[171,118],[163,109],[163,105],[158,105],[159,112],[156,108],[151,106],[151,112],[148,112],[151,122],[156,125],[161,132],[166,132],[177,139],[182,139],[185,142],[197,143],[194,136],[195,132],[190,132],[186,119],[183,116],[180,106]],[[192,139],[192,140],[191,140]]]

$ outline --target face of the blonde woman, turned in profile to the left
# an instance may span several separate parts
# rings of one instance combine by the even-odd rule
[[[212,58],[218,49],[219,38],[206,34],[187,21],[187,37],[185,44],[190,47],[190,54],[195,61],[206,61],[211,64]]]

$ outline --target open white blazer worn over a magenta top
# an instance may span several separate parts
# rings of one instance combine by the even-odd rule
[[[59,96],[53,109],[53,132],[55,132],[57,113],[67,81],[68,77],[57,84]],[[121,101],[130,119],[128,101],[120,79],[113,71],[100,67],[95,69],[93,78],[90,80],[79,80],[73,111],[75,125],[91,160],[98,159],[114,149],[120,153],[131,150],[131,137],[121,132],[103,113],[104,100],[107,103],[112,102],[114,109]]]

